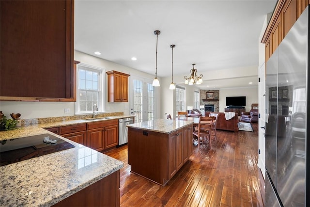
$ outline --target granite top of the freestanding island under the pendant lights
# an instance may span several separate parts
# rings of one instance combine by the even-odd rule
[[[193,124],[193,121],[175,120],[175,119],[155,119],[135,124],[127,125],[127,127],[145,129],[149,131],[170,134],[179,128]]]

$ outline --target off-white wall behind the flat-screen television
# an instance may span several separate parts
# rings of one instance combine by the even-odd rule
[[[219,112],[226,108],[226,96],[246,96],[246,111],[251,110],[252,103],[258,103],[258,86],[247,88],[225,88],[219,90]]]

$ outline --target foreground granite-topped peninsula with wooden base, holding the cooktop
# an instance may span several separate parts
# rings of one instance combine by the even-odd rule
[[[0,206],[119,206],[123,162],[41,128],[44,126],[1,131],[0,141],[51,134],[75,147],[0,166]]]

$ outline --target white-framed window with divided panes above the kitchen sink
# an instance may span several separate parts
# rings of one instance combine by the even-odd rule
[[[98,111],[104,111],[103,80],[103,69],[78,64],[76,113],[93,113],[94,104]]]

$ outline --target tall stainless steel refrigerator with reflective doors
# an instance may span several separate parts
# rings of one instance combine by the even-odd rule
[[[266,63],[266,207],[310,206],[309,59],[308,6]]]

